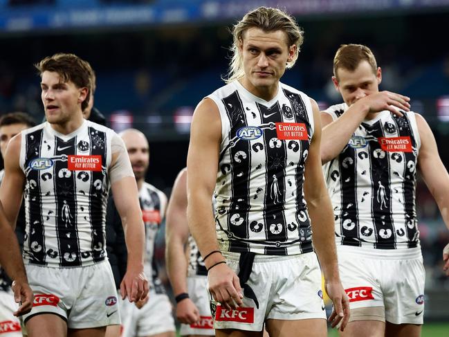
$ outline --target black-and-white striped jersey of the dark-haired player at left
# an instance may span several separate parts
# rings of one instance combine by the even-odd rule
[[[21,133],[26,176],[24,260],[52,267],[105,259],[105,216],[114,131],[84,121],[71,134],[48,122]]]

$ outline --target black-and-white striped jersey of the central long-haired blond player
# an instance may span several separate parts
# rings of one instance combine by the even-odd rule
[[[275,98],[266,102],[238,81],[208,98],[221,116],[214,191],[221,250],[266,255],[313,251],[303,192],[313,135],[309,98],[280,83]]]

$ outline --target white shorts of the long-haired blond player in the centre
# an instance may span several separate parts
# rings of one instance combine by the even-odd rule
[[[238,274],[240,254],[223,252],[223,256],[226,264]],[[212,300],[209,293],[215,329],[262,331],[268,319],[326,319],[321,271],[315,253],[256,255],[246,284],[253,289],[258,308],[253,299],[244,297],[243,307],[221,309],[221,305]]]

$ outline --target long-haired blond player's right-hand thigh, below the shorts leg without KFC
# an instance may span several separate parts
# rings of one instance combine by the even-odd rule
[[[321,318],[310,318],[304,320],[266,320],[266,331],[270,336],[306,336],[326,337],[326,320]]]

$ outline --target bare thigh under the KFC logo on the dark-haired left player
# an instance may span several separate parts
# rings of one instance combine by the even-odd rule
[[[66,337],[67,323],[53,313],[40,313],[25,323],[28,337]]]

